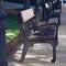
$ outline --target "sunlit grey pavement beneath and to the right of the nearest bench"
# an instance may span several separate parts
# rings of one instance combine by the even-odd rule
[[[51,63],[52,47],[46,44],[34,44],[25,56],[24,63],[20,63],[22,44],[19,44],[8,57],[8,66],[66,66],[66,4],[62,10],[62,25],[58,28],[58,45],[56,63]]]

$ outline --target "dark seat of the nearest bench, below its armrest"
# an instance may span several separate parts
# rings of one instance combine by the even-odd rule
[[[55,29],[47,28],[46,31],[43,32],[34,32],[29,40],[30,41],[52,41],[55,38]]]

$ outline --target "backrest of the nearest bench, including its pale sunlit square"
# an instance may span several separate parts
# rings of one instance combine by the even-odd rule
[[[33,30],[30,30],[33,26],[34,22],[34,12],[33,9],[26,9],[23,11],[20,11],[18,13],[18,21],[20,26],[21,36],[25,40],[25,37],[30,36],[32,34]]]

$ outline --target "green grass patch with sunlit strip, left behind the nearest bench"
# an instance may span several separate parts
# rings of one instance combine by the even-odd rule
[[[15,15],[8,15],[6,18],[6,23],[7,23],[7,31],[6,31],[6,40],[9,42],[11,38],[13,38],[15,35],[19,33],[19,28],[18,28],[18,21]]]

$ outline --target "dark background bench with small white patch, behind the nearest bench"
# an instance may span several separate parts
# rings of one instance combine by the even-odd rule
[[[43,9],[43,19],[48,22],[50,19],[56,18],[57,24],[61,25],[62,3],[58,0],[45,0]]]

